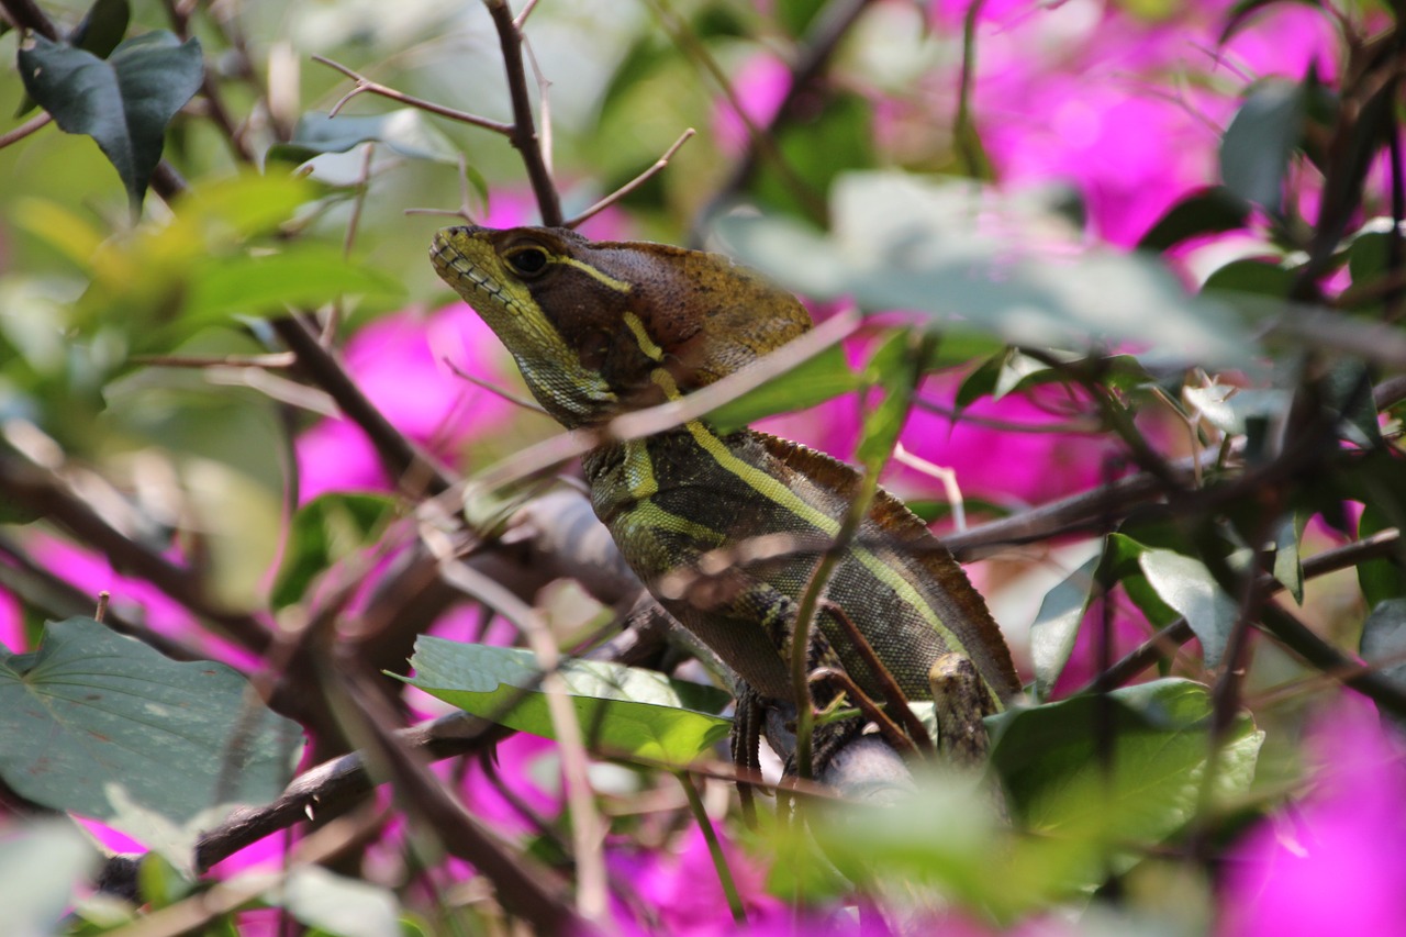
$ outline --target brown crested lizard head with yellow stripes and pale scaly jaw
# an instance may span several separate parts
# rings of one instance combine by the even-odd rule
[[[444,228],[434,270],[567,426],[710,384],[810,328],[792,294],[730,259],[565,228]]]

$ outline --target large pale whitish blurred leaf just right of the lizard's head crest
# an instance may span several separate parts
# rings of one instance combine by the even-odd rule
[[[1097,249],[1070,256],[1077,239],[1067,225],[1019,200],[967,183],[852,173],[832,203],[830,236],[740,215],[717,231],[733,253],[797,293],[925,312],[935,325],[960,317],[1015,345],[1136,342],[1149,346],[1139,355],[1149,366],[1234,363],[1253,349],[1229,308],[1187,295],[1160,262]]]

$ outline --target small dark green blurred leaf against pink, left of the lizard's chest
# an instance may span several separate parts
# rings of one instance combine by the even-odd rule
[[[395,516],[395,499],[374,494],[325,494],[298,508],[269,602],[287,608],[333,563],[363,547]]]

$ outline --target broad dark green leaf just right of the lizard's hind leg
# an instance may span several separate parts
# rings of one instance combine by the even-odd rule
[[[1195,816],[1211,750],[1211,692],[1188,680],[1157,680],[1115,689],[1105,702],[1111,763],[1092,732],[1104,703],[1081,695],[988,719],[991,764],[1032,831],[1095,837],[1130,862],[1130,847],[1160,843]],[[1263,739],[1247,713],[1234,719],[1213,777],[1216,795],[1249,789]],[[1107,869],[1090,874],[1097,882]]]

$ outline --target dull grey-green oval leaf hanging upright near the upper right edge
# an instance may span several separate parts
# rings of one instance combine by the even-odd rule
[[[1220,141],[1226,189],[1278,215],[1303,114],[1303,90],[1298,84],[1265,82],[1250,91]]]

